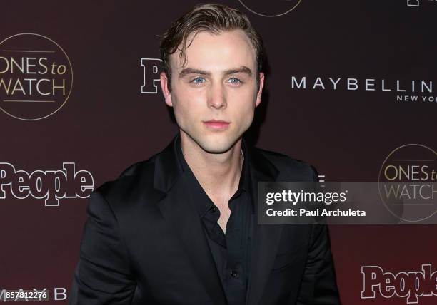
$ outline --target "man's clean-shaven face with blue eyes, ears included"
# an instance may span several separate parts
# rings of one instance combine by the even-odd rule
[[[161,88],[167,105],[174,108],[181,136],[209,153],[229,150],[249,128],[261,102],[256,83],[256,53],[241,30],[189,36],[186,64],[179,51],[171,54],[171,93],[165,73]],[[190,44],[191,42],[191,44]]]

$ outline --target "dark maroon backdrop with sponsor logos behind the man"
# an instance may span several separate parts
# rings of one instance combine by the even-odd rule
[[[437,1],[221,2],[266,43],[258,147],[322,181],[410,181],[403,195],[431,198],[411,224],[330,227],[343,304],[437,304],[437,226],[421,222],[437,190],[414,187],[437,179]],[[177,132],[159,35],[194,4],[2,1],[1,289],[67,303],[90,192]]]

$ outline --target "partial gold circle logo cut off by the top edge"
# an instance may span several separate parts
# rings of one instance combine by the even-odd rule
[[[278,17],[288,14],[290,11],[293,11],[293,9],[296,9],[296,7],[301,4],[302,0],[238,1],[253,14],[263,17]]]

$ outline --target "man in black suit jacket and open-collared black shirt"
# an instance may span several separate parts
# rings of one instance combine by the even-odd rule
[[[196,6],[164,34],[179,135],[91,194],[70,304],[339,304],[325,226],[257,223],[258,181],[316,171],[242,140],[261,103],[261,37]]]

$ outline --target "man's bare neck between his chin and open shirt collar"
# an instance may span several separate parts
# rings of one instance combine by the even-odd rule
[[[186,163],[207,194],[224,200],[236,192],[243,166],[241,138],[224,153],[208,153],[181,131],[181,148]]]

